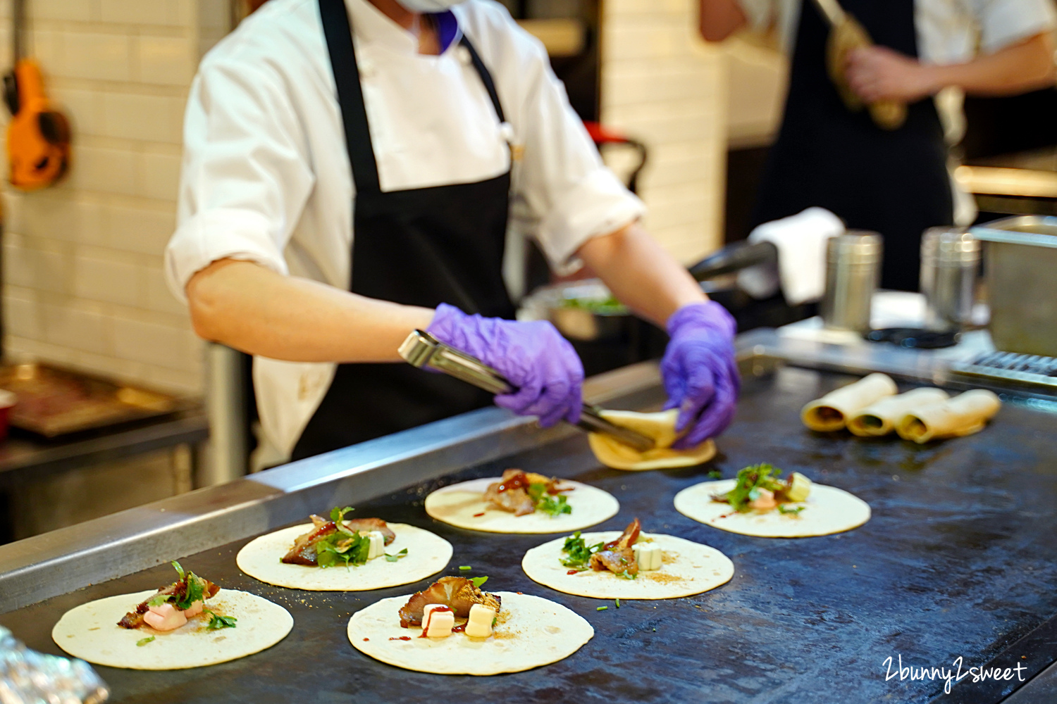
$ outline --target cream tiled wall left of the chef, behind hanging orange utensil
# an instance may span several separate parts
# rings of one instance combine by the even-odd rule
[[[175,225],[183,112],[205,5],[226,16],[217,8],[227,0],[29,2],[30,51],[71,117],[74,156],[57,188],[4,186],[10,358],[201,393],[202,343],[165,288],[162,254]],[[4,57],[10,25],[4,0]],[[0,127],[6,119],[3,111]]]

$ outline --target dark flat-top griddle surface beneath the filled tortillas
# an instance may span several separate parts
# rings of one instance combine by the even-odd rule
[[[274,588],[238,571],[235,554],[246,543],[239,540],[182,562],[224,587],[290,609],[294,630],[282,643],[194,670],[98,671],[113,701],[125,703],[999,701],[1016,678],[990,689],[966,679],[945,696],[941,681],[901,680],[897,659],[920,668],[950,667],[961,657],[965,669],[995,659],[1021,664],[1025,679],[1057,659],[1054,629],[1045,624],[1057,614],[1055,418],[1007,404],[986,432],[927,446],[804,430],[800,406],[847,381],[799,369],[746,381],[720,456],[702,468],[585,470],[586,443],[575,437],[357,507],[356,515],[409,522],[451,541],[455,557],[443,574],[467,574],[458,566],[471,565],[468,574],[490,576],[488,588],[543,595],[582,614],[595,638],[560,663],[493,678],[384,665],[351,647],[350,614],[428,582],[359,593]],[[675,493],[706,480],[708,470],[729,477],[761,461],[854,492],[870,503],[873,518],[838,535],[767,539],[709,528],[672,508]],[[435,522],[422,509],[440,483],[498,475],[515,464],[611,492],[620,512],[599,529],[619,529],[638,516],[646,530],[722,550],[735,563],[734,579],[698,596],[623,602],[617,609],[524,576],[524,552],[555,536],[474,533]],[[32,647],[58,653],[50,632],[67,609],[171,578],[171,568],[147,570],[0,615],[0,624]],[[602,605],[609,609],[595,610]],[[896,674],[886,681],[890,657]]]

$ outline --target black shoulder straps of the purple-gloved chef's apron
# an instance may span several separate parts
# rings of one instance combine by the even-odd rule
[[[381,192],[378,163],[374,155],[374,146],[371,142],[367,108],[364,104],[364,90],[359,82],[359,66],[356,63],[356,49],[352,40],[349,8],[346,7],[345,0],[319,0],[319,16],[323,24],[323,35],[327,38],[327,50],[330,52],[334,83],[337,87],[337,101],[345,126],[346,148],[349,150],[349,164],[352,166],[352,178],[356,184],[356,192]],[[503,106],[499,102],[499,93],[496,92],[496,83],[492,79],[492,74],[481,61],[481,57],[466,35],[463,35],[460,43],[469,52],[474,69],[477,70],[481,82],[488,91],[488,97],[496,109],[499,121],[505,122]]]

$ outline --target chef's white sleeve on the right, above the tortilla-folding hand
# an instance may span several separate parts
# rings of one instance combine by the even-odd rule
[[[506,16],[506,21],[513,20]],[[514,127],[515,227],[532,234],[551,265],[576,268],[576,251],[592,237],[611,234],[641,218],[646,208],[606,167],[583,122],[551,71],[546,50],[520,28],[522,78],[507,115]],[[509,109],[507,109],[509,110]]]

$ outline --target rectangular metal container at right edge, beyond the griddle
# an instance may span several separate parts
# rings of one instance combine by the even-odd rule
[[[972,228],[983,241],[990,334],[1002,351],[1057,357],[1057,217]]]

